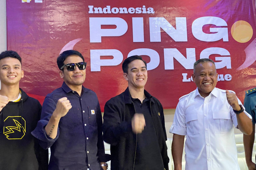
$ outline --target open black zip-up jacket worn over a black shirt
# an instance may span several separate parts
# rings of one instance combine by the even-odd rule
[[[146,90],[144,93],[146,96],[151,96]],[[163,107],[153,96],[149,100],[164,168],[168,170],[169,158],[167,156]],[[103,139],[110,144],[111,170],[133,169],[136,135],[132,133],[131,120],[134,113],[135,108],[128,88],[105,104]]]

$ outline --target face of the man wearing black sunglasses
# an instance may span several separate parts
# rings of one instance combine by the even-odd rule
[[[83,62],[82,58],[78,55],[70,55],[68,56],[64,64],[68,63],[80,63]],[[63,78],[64,82],[67,84],[67,86],[70,89],[76,89],[77,86],[82,86],[82,84],[85,81],[86,76],[86,69],[79,70],[78,66],[76,66],[74,71],[68,71],[66,66],[63,68],[63,70],[60,70],[60,77]]]

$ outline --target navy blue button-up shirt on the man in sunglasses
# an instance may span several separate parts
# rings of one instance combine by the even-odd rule
[[[51,139],[44,128],[63,97],[70,100],[72,108],[60,119],[57,137]],[[32,135],[44,149],[51,149],[49,170],[99,170],[99,162],[105,162],[100,105],[96,94],[87,88],[82,87],[79,96],[63,82],[61,88],[48,94]]]

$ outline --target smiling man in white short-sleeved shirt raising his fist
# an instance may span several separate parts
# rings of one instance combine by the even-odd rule
[[[197,88],[179,99],[170,128],[174,169],[182,168],[186,135],[186,170],[239,170],[234,126],[248,135],[252,117],[234,92],[215,87],[218,73],[211,59],[196,61],[192,78]]]

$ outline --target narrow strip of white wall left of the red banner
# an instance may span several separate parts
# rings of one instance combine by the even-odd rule
[[[6,0],[0,0],[0,52],[7,49]]]

